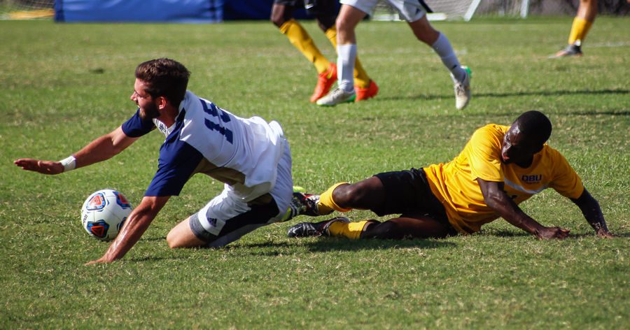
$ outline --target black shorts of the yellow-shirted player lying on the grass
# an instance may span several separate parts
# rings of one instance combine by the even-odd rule
[[[444,224],[448,228],[449,234],[457,234],[449,222],[444,206],[431,192],[422,168],[379,173],[374,176],[383,182],[386,196],[385,203],[371,209],[379,217],[391,214],[426,215]]]

